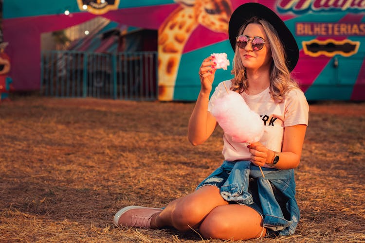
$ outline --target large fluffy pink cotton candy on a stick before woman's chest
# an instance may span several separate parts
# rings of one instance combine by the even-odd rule
[[[229,91],[218,98],[211,109],[223,131],[234,142],[257,142],[264,134],[264,124],[240,94]]]

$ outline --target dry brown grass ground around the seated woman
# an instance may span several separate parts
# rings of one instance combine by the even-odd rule
[[[0,242],[219,242],[117,228],[128,205],[163,207],[221,163],[218,129],[186,138],[192,103],[15,97],[0,105]],[[365,242],[365,104],[310,105],[290,237]]]

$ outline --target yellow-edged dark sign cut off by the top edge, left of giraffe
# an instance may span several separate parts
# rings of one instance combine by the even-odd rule
[[[88,11],[94,15],[102,15],[110,10],[118,9],[120,0],[77,0],[81,11]]]

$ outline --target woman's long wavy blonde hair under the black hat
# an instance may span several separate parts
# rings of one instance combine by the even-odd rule
[[[274,27],[264,19],[259,19],[253,17],[247,21],[239,29],[239,35],[242,35],[243,31],[247,25],[251,23],[260,24],[268,38],[271,46],[271,52],[273,57],[273,62],[270,67],[270,95],[277,101],[282,102],[284,99],[284,94],[292,89],[297,88],[298,84],[292,79],[290,71],[285,63],[286,56],[284,51],[284,46],[280,41]],[[246,68],[242,65],[242,61],[238,52],[239,48],[236,46],[235,56],[233,58],[233,69],[231,71],[234,74],[234,78],[231,80],[232,86],[231,90],[238,93],[242,93],[248,88]]]

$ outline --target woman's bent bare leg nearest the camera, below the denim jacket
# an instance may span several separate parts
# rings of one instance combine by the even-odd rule
[[[255,209],[230,204],[214,208],[202,221],[199,231],[205,239],[247,240],[265,236],[262,222]]]

